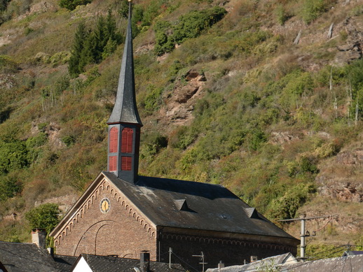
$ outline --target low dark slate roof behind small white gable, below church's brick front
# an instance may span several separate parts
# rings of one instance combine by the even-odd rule
[[[85,259],[85,262],[87,262],[88,266],[90,266],[90,269],[92,269],[93,272],[135,272],[134,267],[140,267],[140,261],[138,259],[82,254],[80,257],[78,257],[78,260],[81,257]],[[172,267],[169,268],[169,264],[161,262],[150,262],[150,270],[152,272],[185,271],[180,264],[172,264]]]

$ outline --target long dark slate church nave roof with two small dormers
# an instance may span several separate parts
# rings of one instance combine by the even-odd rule
[[[298,240],[221,185],[139,176],[136,185],[102,172],[157,226]],[[180,204],[182,201],[183,207]]]

